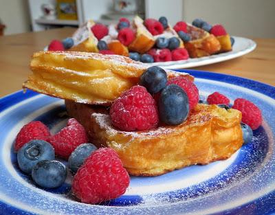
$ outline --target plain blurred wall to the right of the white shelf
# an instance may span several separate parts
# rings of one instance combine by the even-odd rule
[[[235,36],[275,37],[274,0],[183,0],[184,20],[221,23]]]

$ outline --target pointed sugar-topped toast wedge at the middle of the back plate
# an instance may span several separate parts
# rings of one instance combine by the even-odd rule
[[[143,20],[140,16],[135,16],[133,19],[133,27],[136,31],[135,40],[129,45],[129,50],[143,54],[147,52],[155,44],[155,38],[148,32],[143,25]]]

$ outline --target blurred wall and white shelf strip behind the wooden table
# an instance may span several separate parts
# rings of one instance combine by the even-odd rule
[[[0,0],[0,34],[78,27],[87,19],[108,24],[135,14],[164,15],[171,25],[202,18],[235,36],[275,37],[274,0]]]

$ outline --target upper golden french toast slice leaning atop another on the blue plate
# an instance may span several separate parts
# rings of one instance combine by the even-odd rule
[[[23,88],[86,104],[109,106],[139,82],[148,66],[124,56],[87,52],[36,52]],[[168,71],[168,76],[194,78]]]

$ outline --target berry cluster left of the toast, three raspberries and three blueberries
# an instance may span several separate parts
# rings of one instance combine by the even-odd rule
[[[83,203],[101,203],[121,196],[130,183],[115,150],[87,143],[87,134],[74,118],[55,135],[34,121],[19,131],[14,149],[20,170],[40,188],[58,188],[72,175],[72,193]],[[56,157],[67,160],[67,168]]]

